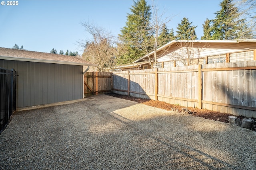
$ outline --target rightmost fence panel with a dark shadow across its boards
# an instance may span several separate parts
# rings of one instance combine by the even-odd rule
[[[256,117],[255,70],[255,61],[204,64],[203,108]]]

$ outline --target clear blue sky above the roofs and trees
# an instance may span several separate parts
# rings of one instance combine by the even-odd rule
[[[197,26],[200,39],[202,24],[206,18],[215,17],[221,1],[154,0],[154,4],[160,13],[172,17],[167,24],[169,29],[175,30],[186,17]],[[151,0],[147,2],[152,4]],[[18,0],[17,6],[0,5],[0,47],[12,48],[16,43],[29,51],[49,53],[54,48],[82,54],[77,41],[89,39],[90,35],[81,22],[93,21],[117,36],[133,4],[133,0]]]

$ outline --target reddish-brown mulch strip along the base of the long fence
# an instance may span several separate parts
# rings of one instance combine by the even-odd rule
[[[184,108],[183,106],[168,104],[166,102],[160,102],[160,101],[156,101],[156,100],[149,100],[149,99],[142,99],[142,98],[135,98],[132,96],[126,96],[126,95],[121,95],[121,94],[109,93],[107,95],[113,96],[116,98],[132,100],[134,102],[142,103],[142,104],[145,104],[148,106],[153,106],[153,107],[157,107],[157,108],[165,109],[165,110],[172,110],[172,108],[174,108],[175,110],[178,110],[179,112],[181,112],[182,108]],[[221,121],[221,122],[225,122],[225,123],[229,123],[228,116],[232,116],[232,114],[220,113],[217,111],[211,111],[211,110],[207,110],[207,109],[198,109],[198,108],[194,108],[194,107],[187,107],[187,108],[188,108],[188,111],[190,111],[190,114],[192,114],[193,116],[203,117],[205,119]],[[237,116],[237,117],[240,119],[245,118],[243,116]]]

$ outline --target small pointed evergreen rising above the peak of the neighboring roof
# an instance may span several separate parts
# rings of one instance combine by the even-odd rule
[[[181,23],[178,24],[178,31],[176,31],[176,39],[178,40],[195,40],[196,37],[196,26],[191,26],[192,22],[189,22],[187,18],[183,18]]]

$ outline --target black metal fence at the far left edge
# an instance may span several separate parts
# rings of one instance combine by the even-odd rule
[[[16,110],[16,71],[0,68],[0,134]]]

